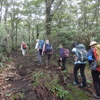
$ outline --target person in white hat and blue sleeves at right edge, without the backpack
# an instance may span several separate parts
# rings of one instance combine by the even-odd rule
[[[94,52],[94,50],[97,50],[96,49],[97,42],[92,41],[92,42],[90,42],[89,46],[90,46],[90,50],[88,51],[88,61],[89,61],[89,64],[91,65],[93,62],[97,61],[97,59],[96,59],[97,55],[95,56],[95,52]],[[99,45],[99,51],[96,51],[96,52],[98,52],[100,55],[100,45]],[[96,69],[92,69],[91,74],[92,74],[94,88],[96,90],[96,94],[93,94],[93,96],[96,99],[100,99],[100,65]]]

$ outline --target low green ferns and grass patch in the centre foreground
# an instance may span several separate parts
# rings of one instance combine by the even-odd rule
[[[59,75],[56,72],[36,70],[31,79],[34,81],[33,86],[45,86],[48,91],[55,94],[61,100],[88,100],[84,91],[76,89],[70,83],[65,87],[59,84]]]

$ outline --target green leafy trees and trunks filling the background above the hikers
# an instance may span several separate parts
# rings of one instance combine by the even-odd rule
[[[89,45],[100,38],[99,0],[1,0],[0,41],[16,50],[22,41],[50,39]]]

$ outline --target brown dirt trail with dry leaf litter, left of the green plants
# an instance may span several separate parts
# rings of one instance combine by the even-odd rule
[[[10,57],[13,58],[13,61],[7,63],[7,67],[0,74],[0,100],[61,100],[42,85],[33,88],[33,81],[30,79],[32,72],[36,69],[43,70],[44,73],[50,70],[54,71],[55,74],[59,74],[60,84],[65,86],[64,81],[66,80],[63,80],[63,74],[61,71],[56,70],[56,66],[45,69],[44,65],[37,65],[35,56],[27,54],[23,57],[21,51],[12,52]],[[70,79],[70,82],[73,83],[73,80]],[[92,97],[94,91],[91,88],[84,91],[87,92],[89,100],[96,100]],[[16,99],[13,99],[14,94],[17,94]],[[18,94],[24,94],[25,99],[21,99]]]

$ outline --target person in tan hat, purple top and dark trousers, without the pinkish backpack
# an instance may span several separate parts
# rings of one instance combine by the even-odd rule
[[[58,68],[57,68],[57,69],[66,70],[65,64],[66,64],[66,58],[67,58],[67,57],[65,57],[65,56],[63,55],[64,48],[63,48],[62,45],[59,45],[58,48],[59,48],[59,52],[60,52],[60,57],[59,57],[59,59],[57,60],[57,62],[58,62]],[[68,52],[69,52],[69,50],[68,50]],[[60,63],[62,63],[62,66],[61,66]]]

